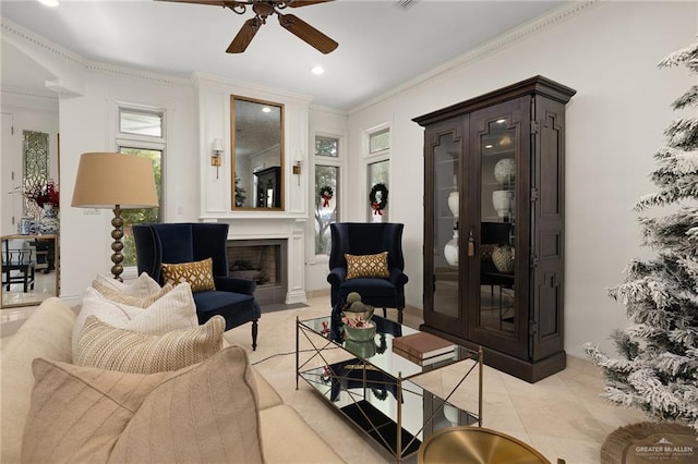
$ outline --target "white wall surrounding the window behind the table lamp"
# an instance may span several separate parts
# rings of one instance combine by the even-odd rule
[[[194,88],[176,80],[130,77],[85,72],[85,94],[60,100],[61,133],[61,296],[77,298],[97,273],[111,267],[110,210],[68,207],[80,155],[117,149],[117,106],[132,102],[166,111],[164,219],[196,221],[198,217],[198,133]],[[113,182],[128,172],[115,172]]]

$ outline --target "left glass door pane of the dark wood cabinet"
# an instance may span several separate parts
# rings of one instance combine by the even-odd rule
[[[458,219],[461,138],[455,131],[437,135],[433,145],[433,312],[440,318],[460,319]]]

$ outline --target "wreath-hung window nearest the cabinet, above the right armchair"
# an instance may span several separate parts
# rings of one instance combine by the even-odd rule
[[[366,213],[369,221],[387,221],[390,203],[390,127],[383,124],[366,131],[366,186],[369,200]]]

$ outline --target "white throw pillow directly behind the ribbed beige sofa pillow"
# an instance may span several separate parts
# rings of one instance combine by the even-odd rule
[[[97,316],[103,322],[119,329],[149,334],[198,326],[196,306],[189,283],[177,285],[147,308],[112,302],[88,286],[83,294],[83,305],[73,328],[73,354],[88,316]]]

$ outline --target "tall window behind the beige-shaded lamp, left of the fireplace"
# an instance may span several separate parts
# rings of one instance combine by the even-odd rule
[[[160,207],[144,209],[124,209],[123,218],[123,261],[122,265],[135,266],[135,246],[133,244],[133,224],[140,222],[161,222],[163,206],[163,159],[165,139],[163,138],[163,112],[140,109],[119,109],[118,151],[148,158],[153,161],[155,187]]]

